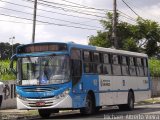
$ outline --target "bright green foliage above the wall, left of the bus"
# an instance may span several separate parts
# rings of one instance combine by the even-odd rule
[[[0,80],[16,79],[16,76],[9,69],[9,64],[10,64],[10,60],[0,60]]]

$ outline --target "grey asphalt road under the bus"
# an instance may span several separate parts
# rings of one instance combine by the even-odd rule
[[[8,119],[18,119],[18,120],[44,120],[38,115],[26,116],[26,114],[18,114],[17,112],[10,111],[12,116],[3,117],[5,120]],[[0,112],[1,114],[4,114]],[[9,113],[7,113],[9,115]],[[15,117],[17,116],[17,117]],[[2,119],[3,119],[2,118]],[[78,119],[78,120],[160,120],[160,104],[151,105],[136,105],[133,111],[120,111],[116,107],[103,108],[98,113],[90,116],[81,115],[79,111],[69,111],[60,112],[57,114],[52,114],[49,120],[52,119]]]

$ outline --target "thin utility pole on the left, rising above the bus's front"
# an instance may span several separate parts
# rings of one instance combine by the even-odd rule
[[[36,31],[36,16],[37,16],[37,0],[34,0],[34,14],[33,14],[33,32],[32,32],[32,43],[35,42],[35,31]]]

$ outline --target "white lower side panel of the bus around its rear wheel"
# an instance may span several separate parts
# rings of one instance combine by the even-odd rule
[[[150,98],[147,77],[101,75],[99,79],[100,105],[126,104],[130,89],[134,91],[135,101]]]

